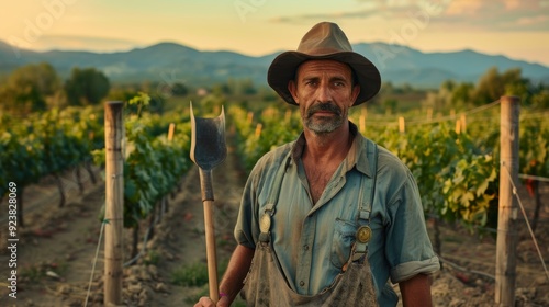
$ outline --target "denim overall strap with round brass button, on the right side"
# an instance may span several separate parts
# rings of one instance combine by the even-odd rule
[[[360,178],[360,191],[358,194],[358,219],[366,220],[366,224],[359,224],[356,235],[354,260],[362,258],[368,252],[368,242],[371,239],[372,230],[370,228],[370,215],[373,206],[373,196],[376,194],[376,178],[378,174],[378,145],[370,139],[367,140],[366,155],[368,166],[372,172],[371,177],[362,175]],[[365,195],[366,194],[366,195]]]

